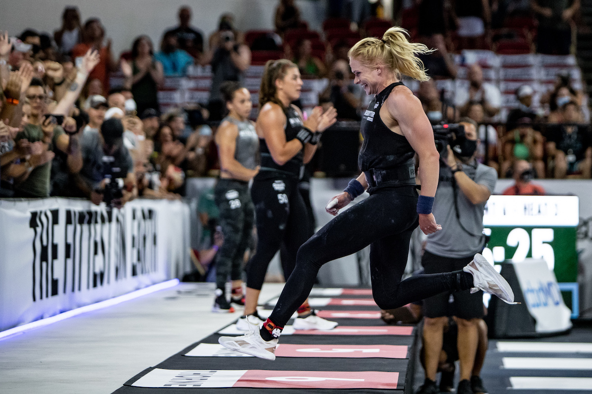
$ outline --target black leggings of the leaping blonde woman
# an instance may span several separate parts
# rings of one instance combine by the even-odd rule
[[[381,309],[394,309],[442,291],[458,289],[456,273],[416,275],[401,281],[411,233],[417,227],[414,187],[384,188],[338,214],[298,250],[289,276],[269,319],[284,327],[310,294],[318,270],[334,259],[370,245],[372,294]]]

